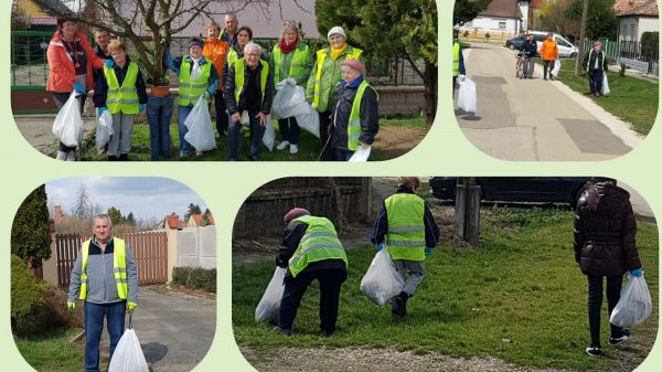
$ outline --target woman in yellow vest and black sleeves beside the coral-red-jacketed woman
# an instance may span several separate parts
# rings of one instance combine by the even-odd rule
[[[113,60],[106,60],[92,99],[100,116],[113,115],[113,132],[108,142],[108,160],[129,160],[134,120],[145,110],[147,91],[140,67],[131,62],[127,46],[118,39],[108,44]]]

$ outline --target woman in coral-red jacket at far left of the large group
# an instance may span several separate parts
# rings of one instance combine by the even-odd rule
[[[71,93],[81,94],[81,113],[85,105],[87,89],[94,87],[93,68],[102,68],[106,60],[99,59],[84,33],[78,32],[78,24],[71,18],[57,19],[57,31],[51,39],[46,52],[49,60],[49,81],[46,91],[53,93],[57,108],[62,108]],[[75,147],[60,142],[57,159],[74,160]]]

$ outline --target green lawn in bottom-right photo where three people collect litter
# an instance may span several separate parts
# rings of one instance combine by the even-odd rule
[[[388,307],[373,305],[360,281],[374,255],[370,244],[350,247],[349,277],[341,293],[337,336],[318,336],[314,283],[306,294],[295,333],[287,338],[256,325],[254,310],[273,272],[273,259],[233,267],[233,326],[239,346],[259,354],[273,348],[395,347],[417,353],[491,355],[525,366],[613,370],[610,358],[588,358],[586,277],[573,252],[573,214],[567,210],[487,208],[481,246],[445,243],[426,262],[427,275],[408,302],[405,320]],[[658,293],[656,226],[638,224],[638,247],[651,294]],[[632,334],[656,334],[656,296],[652,316]],[[604,309],[606,305],[604,305]],[[606,313],[606,310],[605,310]],[[602,317],[604,344],[608,319]]]

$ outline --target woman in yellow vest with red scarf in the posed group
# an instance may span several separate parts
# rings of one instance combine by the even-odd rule
[[[289,85],[302,86],[308,83],[312,70],[310,47],[299,38],[299,28],[293,22],[285,23],[277,45],[274,45],[269,66],[274,71],[274,83],[287,82]],[[289,146],[290,153],[299,152],[299,125],[292,117],[279,118],[281,142],[276,147],[285,150]]]

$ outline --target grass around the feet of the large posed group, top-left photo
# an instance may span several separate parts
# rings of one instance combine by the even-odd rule
[[[280,134],[278,130],[277,121],[274,121],[274,129],[276,130],[276,145],[280,142]],[[215,130],[215,121],[214,132]],[[426,128],[425,121],[421,117],[415,118],[383,118],[380,119],[380,126],[383,127],[416,127]],[[377,134],[377,137],[380,134]],[[179,156],[179,131],[177,124],[170,126],[170,137],[173,146],[171,146],[172,155],[171,159],[178,159]],[[247,126],[242,128],[242,139],[239,140],[239,160],[248,160],[248,145],[250,140],[250,130]],[[217,148],[212,151],[205,151],[202,157],[195,157],[183,160],[227,160],[227,138],[216,139]],[[83,160],[106,160],[107,157],[97,155],[97,150],[94,144],[94,135],[89,136],[85,140],[85,153]],[[299,139],[299,153],[290,155],[289,151],[278,151],[274,147],[274,151],[261,146],[259,149],[259,160],[263,161],[316,161],[319,152],[321,151],[320,140],[311,135],[310,132],[301,129],[301,136]],[[387,151],[382,151],[378,147],[373,148],[370,160],[388,160],[392,157]],[[129,152],[129,160],[150,160],[150,146],[149,146],[149,125],[147,123],[137,123],[134,126],[132,139],[131,139],[131,151]]]

